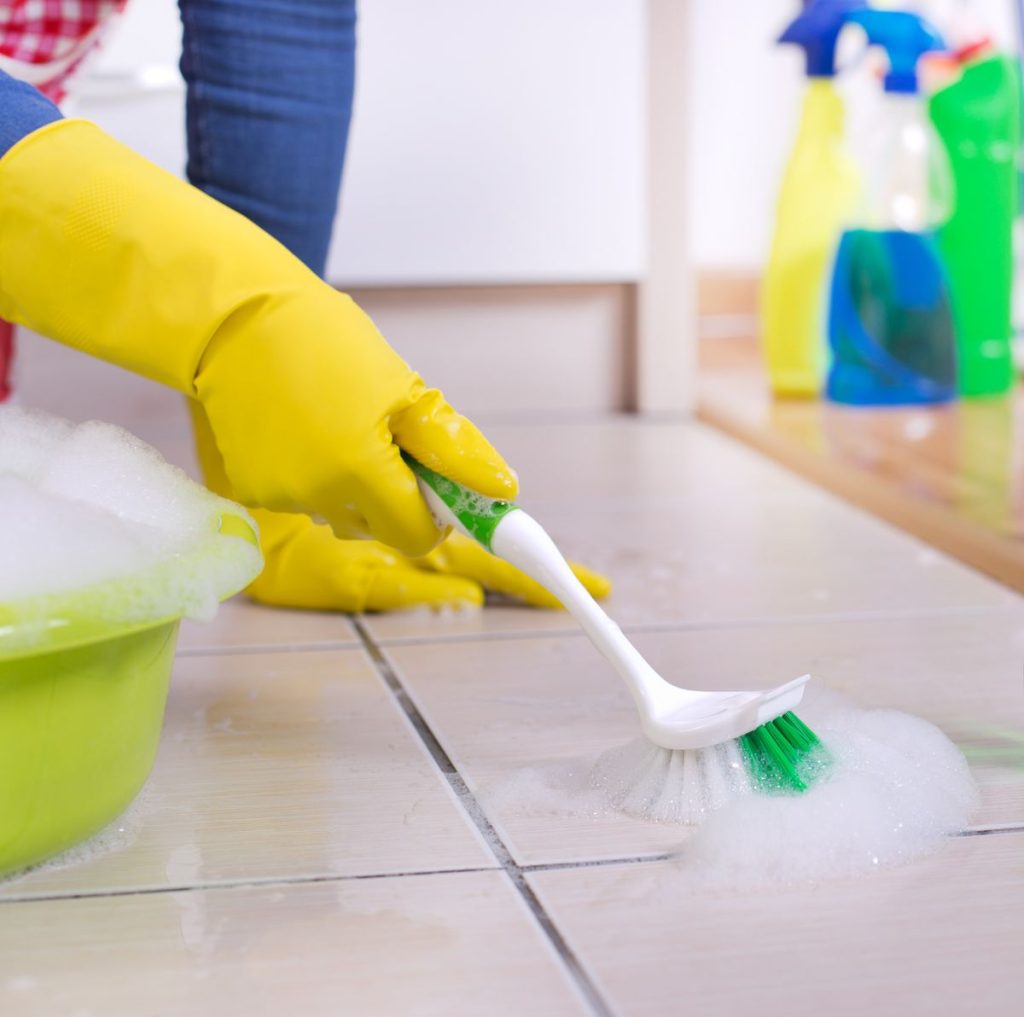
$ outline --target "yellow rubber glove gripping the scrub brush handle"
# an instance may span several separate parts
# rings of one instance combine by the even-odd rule
[[[237,497],[422,555],[399,448],[513,498],[515,474],[344,294],[83,121],[0,159],[0,316],[197,397]]]

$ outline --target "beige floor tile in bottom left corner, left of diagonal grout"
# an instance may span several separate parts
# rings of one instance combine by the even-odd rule
[[[500,873],[0,903],[9,1017],[587,1013]]]

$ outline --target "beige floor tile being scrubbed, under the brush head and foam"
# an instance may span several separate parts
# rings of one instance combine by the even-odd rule
[[[972,760],[982,788],[975,824],[1024,823],[1024,758],[1010,733],[1024,726],[1024,611],[646,633],[636,642],[680,683],[758,688],[810,671],[817,686],[858,705],[923,716]],[[583,638],[393,646],[388,655],[518,862],[657,853],[685,838],[685,828],[551,814],[539,799],[537,808],[514,804],[511,782],[523,770],[592,760],[637,733],[625,687]]]

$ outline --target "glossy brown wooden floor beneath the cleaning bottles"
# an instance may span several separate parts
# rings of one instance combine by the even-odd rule
[[[699,419],[1024,591],[1024,384],[934,407],[773,399],[756,313],[732,322],[699,343]]]

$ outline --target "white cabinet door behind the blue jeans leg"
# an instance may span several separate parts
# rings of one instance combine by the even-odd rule
[[[628,282],[643,263],[643,0],[367,0],[329,276]],[[128,6],[76,112],[180,172],[173,0]]]

